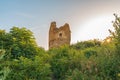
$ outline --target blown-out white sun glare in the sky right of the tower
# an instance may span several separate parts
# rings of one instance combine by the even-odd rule
[[[113,30],[112,20],[114,20],[112,15],[96,16],[89,19],[84,25],[80,25],[77,32],[79,37],[76,36],[76,40],[105,39],[110,35],[108,29]]]

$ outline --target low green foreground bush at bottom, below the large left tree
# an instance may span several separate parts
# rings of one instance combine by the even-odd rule
[[[20,60],[12,61],[10,69],[11,73],[6,80],[51,80],[50,65],[39,56],[35,60],[20,57]]]

